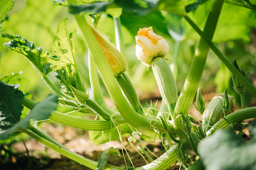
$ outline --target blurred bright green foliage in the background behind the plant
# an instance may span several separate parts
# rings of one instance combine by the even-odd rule
[[[33,41],[36,47],[41,47],[44,51],[50,53],[50,46],[56,38],[56,28],[60,20],[71,18],[68,23],[69,30],[78,29],[76,21],[68,12],[68,8],[56,5],[52,6],[51,4],[52,2],[50,0],[17,0],[15,1],[13,10],[8,13],[7,20],[3,21],[1,25],[6,29],[5,32],[25,37],[27,40]],[[201,29],[203,29],[206,22],[206,16],[210,6],[211,1],[207,1],[203,5],[200,5],[196,11],[188,13],[188,16]],[[89,17],[87,19],[90,23],[91,19]],[[147,68],[141,64],[135,55],[136,42],[134,37],[140,28],[145,27],[153,27],[156,34],[166,39],[169,44],[169,54],[167,55],[169,63],[173,59],[175,42],[180,41],[177,52],[178,72],[176,80],[178,92],[180,92],[198,45],[199,35],[182,18],[163,11],[153,11],[145,16],[138,16],[136,13],[122,11],[120,20],[125,45],[124,56],[129,64],[130,77],[141,99],[146,98],[146,101],[149,102],[149,99],[160,97],[151,68]],[[254,83],[256,77],[255,23],[255,11],[224,4],[213,39],[230,60],[237,59],[239,66],[245,70],[246,77],[251,82],[254,81]],[[102,15],[97,29],[115,45],[114,24],[111,16]],[[21,76],[28,80],[28,83],[25,85],[25,91],[31,94],[30,98],[34,101],[41,101],[51,91],[25,57],[4,48],[3,44],[8,41],[8,39],[0,38],[0,44],[2,44],[0,46],[0,76],[20,73],[22,71]],[[90,90],[87,55],[88,49],[84,44],[80,30],[78,30],[78,68],[86,88]],[[54,73],[49,75],[49,79],[56,86],[59,86]],[[104,95],[108,97],[102,82],[101,84]],[[200,87],[203,91],[216,89],[216,93],[223,93],[228,88],[229,93],[236,96],[232,86],[230,72],[218,57],[210,51]],[[249,94],[245,95],[247,97],[246,104],[249,105],[250,96]],[[239,97],[235,98],[235,100],[238,99]]]

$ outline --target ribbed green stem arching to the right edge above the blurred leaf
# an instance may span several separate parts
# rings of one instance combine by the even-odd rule
[[[248,107],[242,110],[235,111],[225,117],[225,119],[219,120],[210,130],[207,131],[207,135],[214,133],[215,130],[227,129],[229,123],[239,122],[245,119],[256,117],[256,106]]]

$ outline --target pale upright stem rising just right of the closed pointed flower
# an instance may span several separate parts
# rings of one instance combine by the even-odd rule
[[[121,29],[121,21],[120,18],[113,18],[114,20],[114,27],[115,27],[115,44],[116,48],[125,55],[123,37],[122,37],[122,29]]]

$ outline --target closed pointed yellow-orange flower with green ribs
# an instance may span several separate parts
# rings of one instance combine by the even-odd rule
[[[93,26],[89,25],[100,49],[107,60],[114,77],[121,75],[127,68],[127,62],[117,48],[103,37]]]

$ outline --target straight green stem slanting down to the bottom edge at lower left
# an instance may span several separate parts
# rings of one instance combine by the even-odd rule
[[[72,159],[72,160],[74,160],[74,161],[76,161],[80,164],[83,164],[86,167],[89,167],[91,169],[96,169],[97,168],[98,162],[93,161],[93,160],[88,159],[88,158],[85,158],[85,157],[81,156],[78,153],[75,153],[75,152],[72,152],[70,150],[64,149],[64,148],[59,146],[60,144],[56,145],[56,144],[46,140],[45,138],[27,130],[27,129],[24,129],[23,131],[25,133],[27,133],[29,136],[36,139],[37,141],[43,143],[44,145],[50,147],[51,149],[55,150],[56,152],[66,156],[66,157],[68,157],[68,158],[70,158],[70,159]],[[63,147],[65,147],[65,146],[63,146]]]

